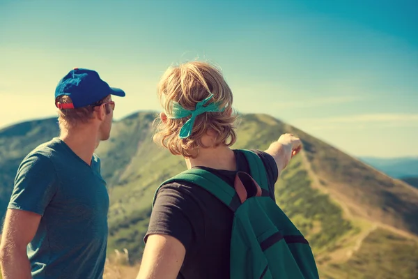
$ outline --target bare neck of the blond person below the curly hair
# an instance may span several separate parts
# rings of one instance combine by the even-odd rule
[[[212,169],[225,169],[235,171],[237,168],[235,154],[228,146],[199,148],[196,158],[186,159],[187,168],[196,166],[210,167]]]

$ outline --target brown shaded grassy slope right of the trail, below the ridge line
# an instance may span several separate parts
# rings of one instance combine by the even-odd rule
[[[295,128],[316,176],[358,216],[418,234],[418,191]]]

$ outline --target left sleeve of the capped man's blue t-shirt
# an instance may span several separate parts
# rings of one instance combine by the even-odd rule
[[[43,216],[56,193],[56,172],[51,160],[31,154],[22,160],[15,176],[8,209],[31,211]]]

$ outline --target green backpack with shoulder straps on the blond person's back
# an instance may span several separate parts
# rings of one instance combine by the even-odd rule
[[[308,241],[269,195],[267,173],[261,158],[251,151],[241,151],[247,158],[251,176],[238,172],[235,190],[204,169],[188,169],[162,185],[174,181],[194,183],[234,212],[231,279],[319,278]],[[157,192],[158,189],[154,202]]]

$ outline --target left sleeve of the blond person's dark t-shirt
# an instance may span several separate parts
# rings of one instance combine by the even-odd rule
[[[166,234],[178,239],[186,251],[204,234],[203,213],[186,187],[178,183],[160,188],[144,241],[150,234]]]

